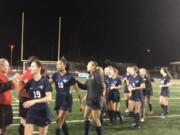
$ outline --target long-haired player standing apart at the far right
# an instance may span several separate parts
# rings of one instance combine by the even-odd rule
[[[162,67],[160,70],[160,73],[162,75],[161,78],[161,93],[160,93],[160,105],[162,107],[162,114],[161,118],[165,118],[165,116],[168,114],[168,99],[169,99],[169,86],[170,86],[170,78],[171,75],[167,68]]]

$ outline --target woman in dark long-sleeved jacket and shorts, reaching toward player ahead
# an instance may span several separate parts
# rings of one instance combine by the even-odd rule
[[[81,84],[80,88],[87,90],[86,107],[84,112],[84,135],[89,134],[89,116],[92,114],[92,119],[95,123],[97,135],[102,135],[100,122],[101,113],[101,96],[105,90],[105,82],[103,73],[97,68],[98,64],[95,61],[90,61],[87,64],[87,71],[90,73],[86,83]],[[78,83],[79,84],[79,83]]]

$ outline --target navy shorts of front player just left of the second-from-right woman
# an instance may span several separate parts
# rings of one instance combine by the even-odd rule
[[[135,90],[132,92],[130,100],[136,101],[136,102],[142,102],[143,94],[141,90]]]

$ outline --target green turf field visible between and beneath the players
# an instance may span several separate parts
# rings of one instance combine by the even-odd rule
[[[173,80],[169,100],[169,115],[165,119],[161,119],[161,108],[159,106],[159,81],[153,83],[154,96],[153,96],[153,111],[154,116],[145,117],[145,122],[142,123],[142,129],[132,130],[132,119],[125,117],[122,125],[116,124],[112,126],[103,125],[104,135],[178,135],[180,133],[180,80]],[[84,91],[81,93],[85,94]],[[54,99],[55,92],[53,92]],[[83,113],[79,111],[79,101],[73,92],[74,103],[72,113],[69,114],[67,121],[71,135],[83,134]],[[122,94],[121,94],[122,97]],[[123,98],[123,97],[122,97]],[[124,113],[124,100],[121,100],[121,111]],[[50,108],[53,114],[53,123],[50,125],[48,135],[55,134],[55,118],[54,101],[50,103]],[[17,99],[13,98],[13,111],[14,122],[8,128],[8,135],[17,135],[17,127],[19,124],[18,117],[18,103]],[[37,134],[35,132],[34,134]],[[90,135],[96,135],[95,130],[92,128]]]

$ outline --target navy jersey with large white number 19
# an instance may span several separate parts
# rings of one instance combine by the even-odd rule
[[[41,77],[40,80],[30,80],[25,86],[29,93],[30,99],[40,99],[46,96],[46,92],[51,92],[52,87],[46,77]]]

